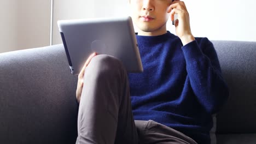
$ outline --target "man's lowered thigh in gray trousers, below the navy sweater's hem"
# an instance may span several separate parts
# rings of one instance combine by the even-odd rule
[[[155,121],[135,121],[138,131],[139,143],[158,143],[158,144],[183,144],[196,143],[190,137],[183,133],[174,130],[166,125],[157,123]]]

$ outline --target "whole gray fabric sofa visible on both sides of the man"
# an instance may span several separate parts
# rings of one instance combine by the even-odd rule
[[[256,42],[213,44],[230,87],[217,143],[256,143]],[[0,143],[75,143],[76,85],[62,45],[0,53]]]

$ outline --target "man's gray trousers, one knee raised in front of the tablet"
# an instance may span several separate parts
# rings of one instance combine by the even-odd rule
[[[98,55],[85,69],[76,143],[196,142],[154,121],[134,121],[123,64],[115,57]]]

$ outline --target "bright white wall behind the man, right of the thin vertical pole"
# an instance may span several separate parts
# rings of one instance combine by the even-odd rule
[[[55,0],[54,44],[62,43],[56,20],[86,17],[124,16],[129,14],[129,0]],[[190,14],[195,37],[211,40],[256,41],[256,1],[247,0],[184,0]],[[55,11],[56,12],[56,11]],[[168,22],[167,29],[175,34]]]

